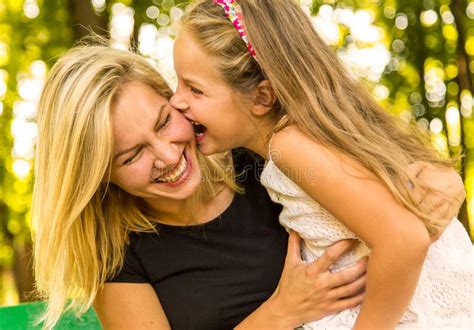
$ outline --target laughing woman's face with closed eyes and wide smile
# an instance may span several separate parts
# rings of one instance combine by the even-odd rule
[[[201,174],[191,124],[150,86],[122,86],[112,107],[111,182],[148,202],[184,200]]]

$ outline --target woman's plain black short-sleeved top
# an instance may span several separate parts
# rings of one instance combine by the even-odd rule
[[[150,283],[173,329],[231,329],[275,290],[288,236],[258,178],[261,162],[234,152],[245,194],[202,225],[158,224],[131,235],[112,282]]]

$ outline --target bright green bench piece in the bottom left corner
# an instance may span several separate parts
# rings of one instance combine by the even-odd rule
[[[16,306],[0,307],[0,329],[2,330],[40,330],[41,326],[34,326],[33,322],[44,308],[41,302],[20,304]],[[58,330],[101,330],[99,319],[91,308],[81,318],[72,313],[64,314],[54,329]]]

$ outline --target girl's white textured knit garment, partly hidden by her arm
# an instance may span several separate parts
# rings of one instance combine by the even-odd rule
[[[308,196],[270,159],[261,182],[271,199],[283,205],[280,223],[304,241],[303,259],[311,262],[331,244],[357,238],[346,226]],[[357,203],[357,200],[354,200]],[[368,255],[361,241],[358,248],[338,261],[332,271],[345,268]],[[431,245],[416,292],[397,328],[474,328],[473,287],[474,249],[462,226],[454,219],[443,235]],[[410,269],[407,269],[409,272]],[[305,324],[309,329],[350,329],[359,307]]]

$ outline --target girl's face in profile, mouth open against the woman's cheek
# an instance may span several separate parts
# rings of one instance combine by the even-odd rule
[[[178,87],[170,103],[193,122],[196,142],[205,155],[249,145],[255,136],[250,111],[219,77],[213,62],[186,31],[176,38]]]

